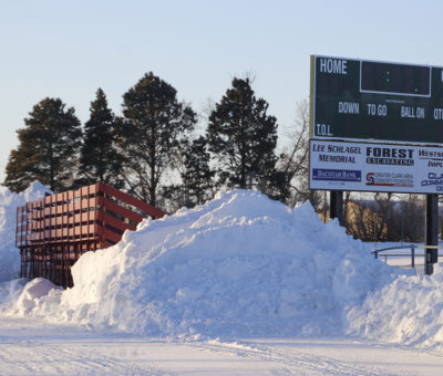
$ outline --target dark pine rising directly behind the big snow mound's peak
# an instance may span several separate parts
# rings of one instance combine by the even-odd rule
[[[275,175],[277,119],[256,98],[249,79],[234,79],[209,116],[209,150],[219,164],[220,184],[266,191]]]

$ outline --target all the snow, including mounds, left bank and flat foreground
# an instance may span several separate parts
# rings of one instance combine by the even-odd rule
[[[437,375],[443,270],[370,254],[309,205],[222,192],[82,255],[74,288],[17,279],[0,194],[1,375]]]

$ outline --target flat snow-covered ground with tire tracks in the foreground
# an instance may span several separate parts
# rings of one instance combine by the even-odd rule
[[[441,353],[346,337],[179,341],[0,321],[1,375],[440,375]]]

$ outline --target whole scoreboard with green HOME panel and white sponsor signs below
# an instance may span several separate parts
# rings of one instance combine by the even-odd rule
[[[443,194],[443,67],[311,56],[310,121],[311,189]]]

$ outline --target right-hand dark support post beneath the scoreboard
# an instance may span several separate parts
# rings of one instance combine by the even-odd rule
[[[426,195],[425,220],[426,246],[439,244],[439,195]],[[434,272],[434,263],[437,262],[439,250],[426,248],[424,252],[424,273],[431,275]]]

